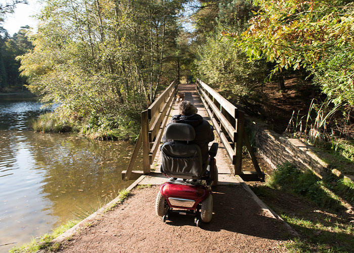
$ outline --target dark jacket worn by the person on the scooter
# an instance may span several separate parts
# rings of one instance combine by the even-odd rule
[[[209,142],[214,140],[214,133],[212,131],[211,125],[208,121],[204,120],[199,114],[192,114],[190,116],[186,115],[174,115],[171,118],[172,123],[186,123],[193,126],[195,130],[195,139],[191,143],[195,143],[200,147],[203,158],[203,168],[208,164],[208,151]]]

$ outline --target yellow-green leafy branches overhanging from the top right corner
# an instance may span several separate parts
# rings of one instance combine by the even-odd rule
[[[256,0],[260,9],[235,39],[250,59],[283,68],[310,70],[336,105],[354,106],[352,1]],[[240,39],[240,40],[239,40]]]

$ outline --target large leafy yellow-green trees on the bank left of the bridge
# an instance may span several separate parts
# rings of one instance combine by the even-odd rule
[[[34,49],[21,60],[28,88],[79,120],[84,135],[139,134],[137,115],[176,76],[173,59],[183,1],[47,1]],[[123,130],[123,131],[122,131]]]

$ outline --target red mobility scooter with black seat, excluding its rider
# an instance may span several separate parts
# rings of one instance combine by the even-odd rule
[[[202,222],[208,223],[212,217],[211,186],[217,184],[217,166],[215,155],[218,144],[209,149],[209,164],[202,166],[200,147],[190,143],[195,139],[193,126],[186,123],[167,125],[165,138],[172,140],[161,146],[161,173],[169,177],[160,185],[156,197],[156,214],[165,222],[168,215],[178,213],[195,216],[197,227]]]

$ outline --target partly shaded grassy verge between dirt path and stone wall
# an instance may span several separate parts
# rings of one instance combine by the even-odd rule
[[[251,188],[299,233],[287,244],[291,252],[352,252],[354,218],[329,186],[333,184],[311,171],[285,163],[264,185]],[[345,187],[344,192],[352,194],[352,189]]]

